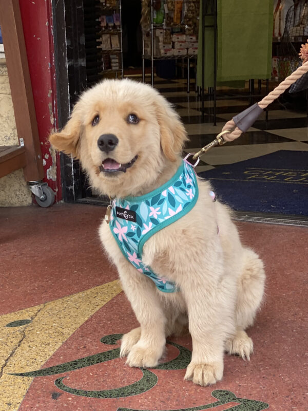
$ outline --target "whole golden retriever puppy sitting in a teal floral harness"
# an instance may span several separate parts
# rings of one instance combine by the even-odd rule
[[[207,385],[222,378],[224,351],[243,359],[253,352],[245,329],[260,307],[265,274],[260,258],[241,244],[228,208],[213,201],[209,183],[183,162],[186,140],[170,104],[130,80],[105,80],[85,91],[64,129],[50,136],[112,199],[100,238],[140,323],[123,336],[121,357],[132,367],[156,366],[166,337],[188,325],[185,379]],[[139,254],[129,243],[137,231]]]

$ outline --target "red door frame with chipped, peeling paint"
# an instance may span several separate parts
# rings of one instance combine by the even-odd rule
[[[49,133],[57,127],[51,1],[19,0],[44,162],[44,181],[59,201],[62,199],[59,154],[54,154],[48,142]]]

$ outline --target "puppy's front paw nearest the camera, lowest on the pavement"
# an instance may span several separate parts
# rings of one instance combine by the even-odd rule
[[[198,385],[215,384],[222,379],[223,362],[215,362],[211,364],[188,364],[184,379],[190,380]]]

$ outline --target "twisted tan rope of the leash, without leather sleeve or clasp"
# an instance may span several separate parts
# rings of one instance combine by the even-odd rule
[[[285,80],[283,80],[273,91],[269,92],[267,96],[265,96],[261,101],[258,102],[258,105],[264,109],[269,104],[273,103],[291,84],[295,83],[300,77],[303,76],[308,71],[308,61],[305,62],[302,66],[298,67],[290,76],[288,76]],[[240,137],[243,133],[240,130],[234,120],[228,121],[222,128],[222,131],[230,130],[230,133],[224,134],[223,139],[225,141],[234,141]]]

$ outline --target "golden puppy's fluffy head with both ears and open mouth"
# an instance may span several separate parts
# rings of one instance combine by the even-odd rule
[[[152,87],[105,80],[84,92],[66,126],[50,136],[58,151],[79,159],[102,194],[143,192],[177,162],[187,139],[178,114]]]

